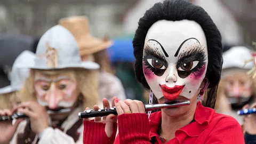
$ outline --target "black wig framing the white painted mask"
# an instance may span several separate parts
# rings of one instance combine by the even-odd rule
[[[210,16],[200,6],[193,5],[183,0],[166,0],[163,3],[156,3],[140,18],[138,29],[133,38],[134,67],[137,80],[146,89],[150,89],[142,69],[143,47],[148,29],[159,20],[193,20],[202,27],[208,50],[206,77],[210,81],[207,95],[205,94],[206,100],[204,100],[203,105],[214,108],[223,63],[221,35]]]

